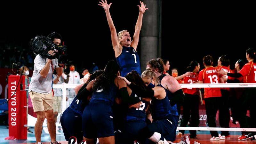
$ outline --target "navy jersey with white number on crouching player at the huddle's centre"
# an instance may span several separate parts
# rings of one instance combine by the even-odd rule
[[[132,91],[130,97],[137,97],[137,95]],[[126,113],[126,121],[143,121],[146,119],[146,108],[148,107],[148,102],[142,100],[142,105],[140,108],[128,108]]]

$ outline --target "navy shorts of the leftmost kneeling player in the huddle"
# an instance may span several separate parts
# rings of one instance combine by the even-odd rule
[[[68,107],[61,115],[60,123],[66,140],[71,136],[75,136],[79,142],[84,140],[81,127],[82,116],[80,114]]]

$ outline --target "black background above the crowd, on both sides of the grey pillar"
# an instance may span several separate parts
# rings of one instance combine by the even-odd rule
[[[117,32],[127,29],[132,36],[139,0],[110,2]],[[171,68],[178,68],[179,74],[186,72],[192,60],[197,60],[202,69],[205,55],[214,57],[214,66],[222,54],[228,55],[232,69],[236,60],[246,59],[246,49],[255,47],[255,12],[250,4],[174,4],[167,0],[162,4],[162,58],[170,61]],[[108,60],[115,59],[106,14],[97,0],[3,7],[1,53],[6,46],[29,51],[31,37],[57,32],[78,72],[90,68],[92,62],[102,69]],[[137,50],[140,54],[140,44]]]

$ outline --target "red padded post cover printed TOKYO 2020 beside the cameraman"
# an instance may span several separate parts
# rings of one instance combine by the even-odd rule
[[[18,85],[19,79],[20,75],[8,77],[9,136],[18,140],[27,139],[27,96],[26,91],[20,91],[20,84],[24,84],[25,78],[22,76]]]

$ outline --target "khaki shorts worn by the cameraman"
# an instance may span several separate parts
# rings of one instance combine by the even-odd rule
[[[32,101],[34,112],[47,111],[53,109],[52,92],[48,94],[42,94],[30,91],[29,96]]]

